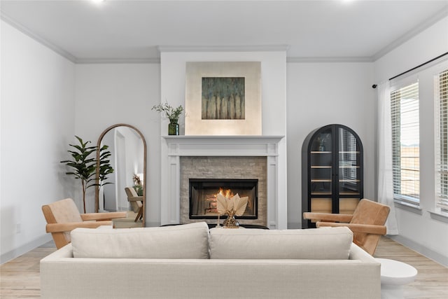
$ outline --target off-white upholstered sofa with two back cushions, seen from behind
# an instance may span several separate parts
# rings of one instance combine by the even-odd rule
[[[41,260],[42,298],[380,298],[348,228],[79,228]]]

